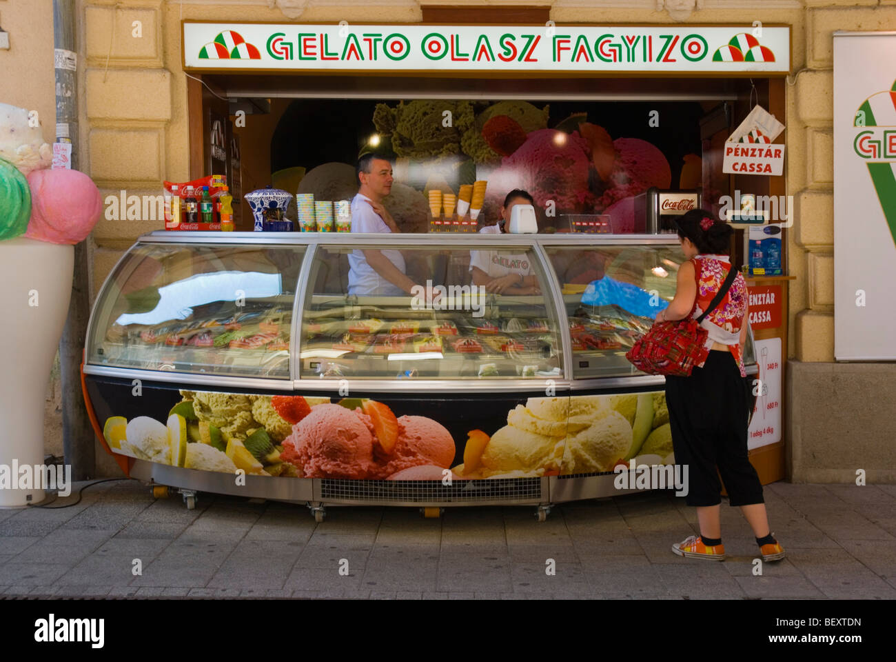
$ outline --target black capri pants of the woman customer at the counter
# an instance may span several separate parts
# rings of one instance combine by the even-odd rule
[[[690,377],[667,376],[675,461],[688,466],[687,505],[721,503],[719,474],[732,506],[763,502],[762,483],[746,451],[749,388],[734,356],[718,350]]]

